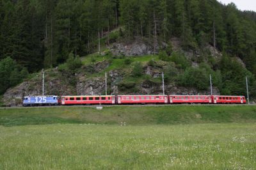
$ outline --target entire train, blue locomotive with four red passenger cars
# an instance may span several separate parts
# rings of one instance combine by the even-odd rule
[[[95,95],[28,96],[23,106],[38,105],[125,105],[125,104],[246,104],[244,96],[223,95]]]

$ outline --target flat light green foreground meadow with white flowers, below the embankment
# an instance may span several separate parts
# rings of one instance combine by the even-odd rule
[[[0,169],[255,169],[255,123],[0,127]]]

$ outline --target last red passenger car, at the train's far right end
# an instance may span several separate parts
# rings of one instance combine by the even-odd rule
[[[244,96],[212,96],[214,104],[246,104]]]

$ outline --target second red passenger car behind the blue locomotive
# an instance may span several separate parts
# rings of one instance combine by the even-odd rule
[[[167,95],[118,95],[118,104],[168,104]]]

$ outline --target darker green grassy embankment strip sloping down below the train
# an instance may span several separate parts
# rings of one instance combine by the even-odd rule
[[[124,105],[92,107],[1,108],[0,125],[101,124],[176,125],[256,123],[255,105]]]

